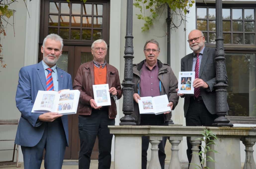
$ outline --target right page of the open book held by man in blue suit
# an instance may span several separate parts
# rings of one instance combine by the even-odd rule
[[[79,90],[61,91],[57,105],[57,112],[59,114],[76,114],[79,96]]]

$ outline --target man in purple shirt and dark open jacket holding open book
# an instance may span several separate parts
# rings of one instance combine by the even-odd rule
[[[145,43],[144,54],[146,59],[134,65],[133,82],[134,82],[134,112],[132,116],[135,118],[137,125],[158,125],[167,126],[172,114],[165,112],[164,114],[140,114],[138,108],[138,99],[146,96],[159,96],[166,94],[168,96],[171,110],[174,110],[178,104],[179,96],[176,89],[178,88],[178,80],[168,64],[163,64],[157,59],[160,54],[160,47],[156,40],[152,39]],[[158,155],[161,168],[164,169],[165,152],[164,147],[167,137],[159,144]],[[147,149],[149,145],[149,137],[142,136],[142,169],[147,166]]]

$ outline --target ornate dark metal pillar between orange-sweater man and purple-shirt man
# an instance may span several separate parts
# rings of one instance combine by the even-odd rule
[[[126,15],[126,36],[124,49],[124,82],[123,85],[123,114],[120,119],[120,125],[136,125],[135,119],[131,116],[133,113],[133,36],[132,36],[132,12],[133,0],[127,0]]]

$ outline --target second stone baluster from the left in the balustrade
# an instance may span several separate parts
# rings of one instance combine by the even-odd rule
[[[168,140],[172,144],[172,157],[168,169],[181,169],[179,162],[179,143],[182,141],[182,137],[168,137]]]

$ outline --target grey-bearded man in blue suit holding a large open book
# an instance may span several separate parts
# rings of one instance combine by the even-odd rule
[[[40,169],[44,149],[45,168],[62,167],[65,149],[68,146],[67,115],[63,116],[57,112],[31,113],[38,90],[48,90],[46,77],[49,75],[46,69],[52,69],[55,91],[72,90],[70,74],[56,66],[62,47],[63,40],[59,35],[47,35],[41,47],[43,60],[38,64],[25,66],[19,71],[16,106],[21,117],[15,143],[21,146],[25,169]]]

